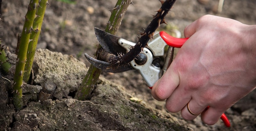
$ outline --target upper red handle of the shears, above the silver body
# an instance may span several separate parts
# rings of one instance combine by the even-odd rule
[[[159,32],[162,39],[171,47],[180,48],[189,38],[175,38],[164,31]]]

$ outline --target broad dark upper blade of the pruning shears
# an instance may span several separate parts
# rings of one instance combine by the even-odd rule
[[[96,27],[94,28],[94,31],[99,41],[99,44],[103,49],[108,51],[108,53],[112,53],[115,55],[118,55],[118,53],[126,53],[126,49],[124,49],[118,44],[118,40],[120,39],[119,37],[114,36],[108,32],[102,31]]]

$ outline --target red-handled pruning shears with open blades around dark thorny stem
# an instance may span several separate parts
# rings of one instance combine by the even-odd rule
[[[116,56],[124,55],[136,44],[98,28],[94,28],[94,30],[101,47],[110,54],[114,54]],[[144,47],[139,55],[137,55],[130,63],[111,64],[108,60],[97,60],[86,53],[85,57],[92,65],[94,65],[94,67],[106,72],[118,73],[137,69],[146,81],[148,87],[152,89],[155,82],[157,82],[161,77],[161,68],[159,64],[161,60],[157,57],[164,56],[164,47],[168,45],[169,49],[162,70],[164,73],[173,60],[174,47],[182,47],[186,40],[188,40],[188,38],[175,38],[164,31],[160,31],[153,36],[153,39],[148,42],[147,46]],[[225,123],[226,127],[230,127],[229,120],[224,113],[222,114],[221,119]]]

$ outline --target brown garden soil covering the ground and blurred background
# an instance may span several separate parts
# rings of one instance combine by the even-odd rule
[[[117,0],[72,1],[73,4],[49,0],[50,6],[47,6],[38,42],[38,49],[48,50],[37,51],[38,58],[35,58],[35,61],[37,60],[38,64],[34,64],[36,76],[34,85],[33,87],[29,85],[24,87],[25,109],[14,110],[11,100],[12,83],[3,79],[7,78],[12,82],[13,78],[11,75],[1,74],[3,77],[0,88],[1,131],[256,130],[255,91],[225,112],[231,122],[230,128],[226,128],[221,120],[215,125],[209,126],[203,124],[200,117],[193,121],[185,121],[180,113],[169,113],[165,109],[164,102],[158,102],[150,95],[150,89],[138,71],[103,72],[91,100],[78,102],[72,99],[90,65],[83,54],[88,53],[93,56],[97,48],[98,42],[94,34],[94,27],[105,28],[110,17],[109,10],[115,7]],[[2,44],[7,45],[12,53],[16,49],[17,35],[22,32],[28,4],[29,0],[5,0],[2,2],[0,38]],[[143,30],[148,25],[152,20],[151,14],[155,14],[161,4],[158,0],[133,0],[133,4],[128,7],[117,35],[136,42],[138,30]],[[168,25],[175,27],[180,32],[183,32],[186,25],[205,14],[232,18],[245,24],[256,24],[255,5],[255,0],[227,0],[223,4],[222,12],[218,12],[218,0],[177,0],[169,15],[166,16],[166,21]],[[161,28],[166,29],[167,27],[162,25]],[[42,53],[49,54],[49,56],[46,57]],[[67,55],[62,56],[61,53]],[[46,60],[50,60],[48,58],[54,58],[54,56],[58,56],[55,58],[56,63],[44,61],[44,57]],[[58,69],[56,65],[69,60],[72,62],[59,67],[59,69],[63,69],[61,72],[64,74],[59,75],[59,72],[52,72]],[[40,65],[43,62],[48,67],[53,64],[53,69],[45,69],[47,66]],[[65,70],[68,67],[74,68]],[[42,72],[40,73],[40,71]],[[57,82],[56,78],[63,79]],[[70,80],[73,80],[74,86],[70,85]],[[45,100],[44,97],[39,97],[40,91],[44,87],[55,88],[54,95],[49,93],[51,99]],[[134,100],[130,100],[130,98],[138,100],[132,102]]]

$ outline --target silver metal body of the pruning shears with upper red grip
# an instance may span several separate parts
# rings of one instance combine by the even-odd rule
[[[153,87],[155,82],[160,78],[161,72],[159,64],[153,62],[154,57],[164,56],[164,47],[166,45],[180,48],[187,39],[188,38],[174,38],[166,32],[161,31],[157,33],[154,38],[148,42],[148,46],[143,48],[141,53],[130,62],[130,66],[140,72],[148,87]],[[122,38],[118,40],[118,44],[126,49],[127,52],[135,45],[135,43]]]

